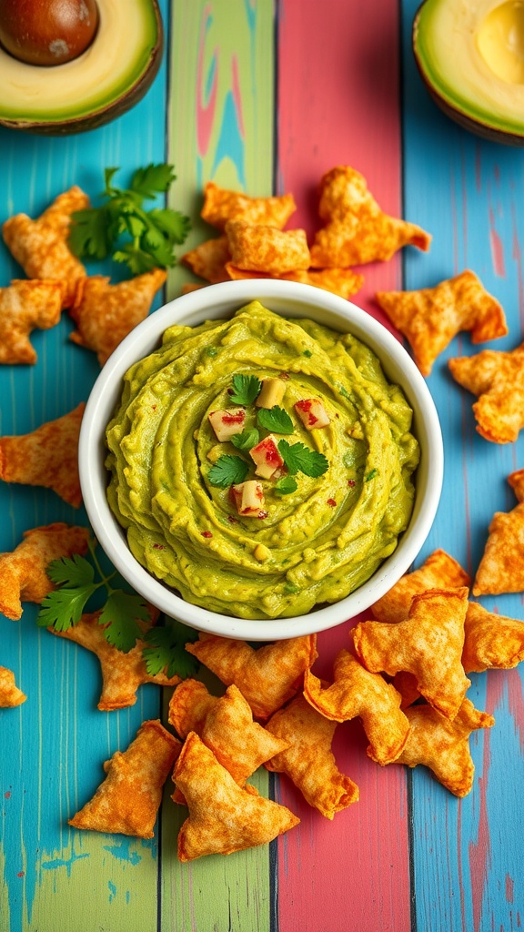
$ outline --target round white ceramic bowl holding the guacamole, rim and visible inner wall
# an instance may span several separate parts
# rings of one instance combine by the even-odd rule
[[[351,332],[377,353],[390,382],[400,385],[414,411],[413,432],[421,445],[415,473],[413,514],[398,546],[379,569],[350,596],[333,605],[294,618],[246,620],[191,605],[151,576],[135,560],[123,529],[107,504],[108,473],[104,467],[105,429],[122,391],[122,378],[132,363],[159,346],[172,323],[195,326],[225,318],[259,299],[289,318],[310,318],[340,332]],[[209,285],[176,298],[140,323],[117,347],[97,378],[82,420],[79,442],[80,484],[93,531],[121,575],[159,610],[200,631],[243,640],[279,640],[324,631],[369,608],[407,571],[433,524],[440,499],[443,445],[432,396],[415,363],[392,334],[364,310],[320,288],[292,281],[247,280]]]

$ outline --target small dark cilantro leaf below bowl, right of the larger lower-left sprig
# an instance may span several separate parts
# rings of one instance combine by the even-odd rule
[[[165,670],[167,677],[178,674],[186,679],[193,676],[199,668],[199,662],[196,657],[187,653],[185,645],[188,641],[196,641],[198,637],[198,631],[173,618],[166,619],[163,626],[156,625],[150,628],[144,640],[151,646],[142,650],[147,673],[154,677]]]

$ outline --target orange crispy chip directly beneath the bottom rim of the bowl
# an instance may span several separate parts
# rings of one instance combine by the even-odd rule
[[[316,636],[292,637],[254,648],[245,641],[199,635],[186,644],[200,664],[207,666],[226,686],[238,686],[256,719],[269,719],[302,686],[304,671],[318,656]]]

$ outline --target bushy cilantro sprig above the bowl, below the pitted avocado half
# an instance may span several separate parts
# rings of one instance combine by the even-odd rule
[[[117,168],[104,172],[100,207],[72,214],[69,246],[79,258],[112,254],[133,275],[174,266],[174,247],[186,240],[189,218],[172,208],[145,210],[144,201],[166,193],[175,180],[172,165],[147,165],[133,172],[129,188],[113,184]]]

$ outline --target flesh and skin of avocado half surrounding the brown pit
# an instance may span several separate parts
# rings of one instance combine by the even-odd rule
[[[159,71],[157,0],[97,0],[99,25],[73,62],[25,64],[0,48],[0,126],[48,135],[94,130],[144,96]]]

